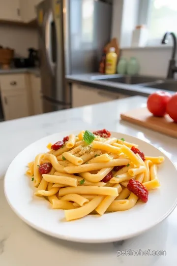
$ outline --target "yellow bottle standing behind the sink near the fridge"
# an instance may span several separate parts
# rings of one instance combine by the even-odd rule
[[[106,74],[115,74],[118,55],[115,53],[116,49],[114,47],[110,48],[109,53],[106,55]]]

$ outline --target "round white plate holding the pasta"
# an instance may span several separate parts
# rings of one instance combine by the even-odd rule
[[[140,234],[165,219],[177,205],[177,169],[169,158],[157,148],[136,137],[112,133],[117,138],[139,145],[147,156],[164,156],[165,162],[158,169],[161,187],[149,191],[147,203],[138,202],[127,211],[88,215],[66,222],[63,210],[51,209],[50,203],[33,196],[31,179],[24,173],[36,154],[46,152],[49,142],[55,143],[71,132],[44,137],[29,145],[8,167],[4,191],[9,205],[27,224],[43,233],[76,242],[113,242]],[[78,132],[73,132],[77,134]]]

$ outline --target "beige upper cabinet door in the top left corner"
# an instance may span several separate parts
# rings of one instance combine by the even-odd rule
[[[0,0],[0,20],[21,21],[20,0]]]

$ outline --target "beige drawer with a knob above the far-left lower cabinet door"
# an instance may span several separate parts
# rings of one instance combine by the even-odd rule
[[[12,90],[13,88],[25,88],[25,74],[6,74],[0,75],[0,87],[2,91]]]

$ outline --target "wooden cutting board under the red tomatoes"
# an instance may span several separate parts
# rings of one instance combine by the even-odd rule
[[[134,109],[127,113],[120,114],[120,117],[133,124],[177,137],[177,123],[174,123],[168,115],[165,115],[164,117],[153,116],[148,111],[147,107]]]

